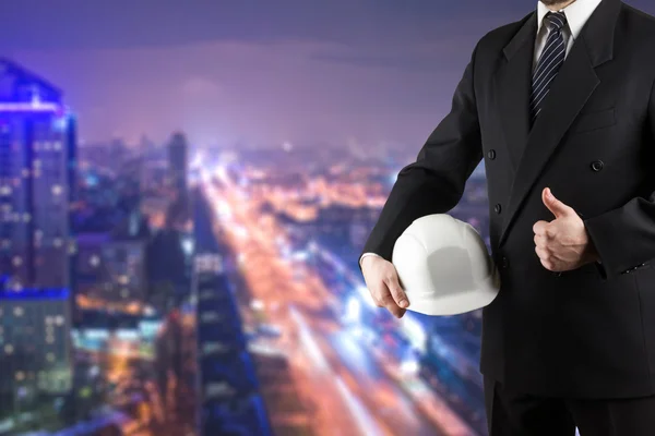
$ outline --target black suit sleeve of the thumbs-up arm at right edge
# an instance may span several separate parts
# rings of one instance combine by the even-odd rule
[[[655,84],[651,89],[647,123],[651,146],[655,146]],[[583,221],[600,257],[596,268],[604,280],[630,272],[655,258],[655,191]]]

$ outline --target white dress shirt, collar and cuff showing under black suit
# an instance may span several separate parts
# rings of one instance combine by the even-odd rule
[[[567,15],[567,24],[562,28],[562,36],[564,37],[564,43],[567,45],[567,53],[564,55],[564,59],[567,56],[569,56],[571,47],[573,47],[573,43],[580,35],[582,27],[584,27],[584,24],[587,22],[590,16],[592,16],[592,13],[594,13],[598,4],[600,4],[600,1],[603,0],[575,0],[564,9],[559,10],[559,12],[563,12],[564,15]],[[546,4],[541,3],[540,1],[537,2],[537,35],[535,38],[533,71],[537,68],[539,56],[541,56],[541,51],[544,51],[544,46],[546,45],[548,34],[550,33],[548,26],[544,25],[544,16],[546,16],[549,11],[550,10]],[[377,253],[364,253],[359,258],[359,265],[361,265],[361,261],[366,256],[381,257]]]

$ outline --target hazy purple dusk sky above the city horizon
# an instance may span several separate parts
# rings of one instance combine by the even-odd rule
[[[655,13],[652,0],[628,2]],[[182,129],[198,144],[418,147],[449,110],[476,40],[535,7],[3,0],[0,56],[63,88],[86,142]]]

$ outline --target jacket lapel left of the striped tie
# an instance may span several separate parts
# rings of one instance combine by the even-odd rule
[[[503,49],[507,61],[493,76],[512,172],[519,166],[529,132],[528,98],[536,32],[537,13],[533,12]]]

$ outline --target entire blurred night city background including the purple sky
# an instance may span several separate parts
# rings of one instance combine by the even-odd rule
[[[481,310],[358,259],[536,4],[0,0],[0,436],[486,436]],[[448,214],[490,246],[484,164]]]

